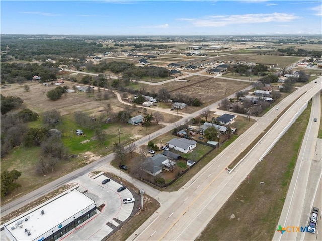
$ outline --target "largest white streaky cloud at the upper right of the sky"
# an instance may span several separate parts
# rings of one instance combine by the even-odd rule
[[[183,18],[182,21],[191,22],[196,27],[222,27],[232,24],[256,24],[269,22],[291,22],[298,17],[293,14],[243,14],[243,15],[215,15],[200,19]]]

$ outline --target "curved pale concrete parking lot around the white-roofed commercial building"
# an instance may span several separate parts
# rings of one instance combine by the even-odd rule
[[[108,183],[102,184],[102,181],[107,178],[109,177],[101,172],[92,177],[84,175],[74,180],[75,183],[79,184],[77,188],[79,191],[94,200],[97,207],[102,206],[102,204],[104,204],[104,207],[101,212],[97,210],[97,215],[92,219],[77,226],[74,231],[67,233],[62,239],[102,240],[130,218],[135,203],[123,204],[123,199],[133,198],[133,194],[127,188],[117,192],[117,189],[122,185],[112,179]]]

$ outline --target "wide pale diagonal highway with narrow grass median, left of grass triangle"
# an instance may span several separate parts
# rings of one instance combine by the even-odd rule
[[[280,110],[271,109],[184,185],[183,191],[178,194],[172,193],[177,195],[177,199],[170,208],[161,207],[128,240],[194,240],[261,160],[262,154],[272,147],[271,144],[279,138],[285,127],[294,122],[294,116],[299,114],[307,101],[320,91],[320,82],[321,78],[319,84],[309,83],[292,93],[281,101]],[[276,118],[282,109],[300,95],[302,97],[255,145],[243,162],[228,174],[225,167]]]

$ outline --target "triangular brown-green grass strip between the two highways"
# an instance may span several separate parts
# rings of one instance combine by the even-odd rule
[[[245,179],[230,196],[197,240],[272,239],[309,115],[310,105],[251,171],[250,180]]]

